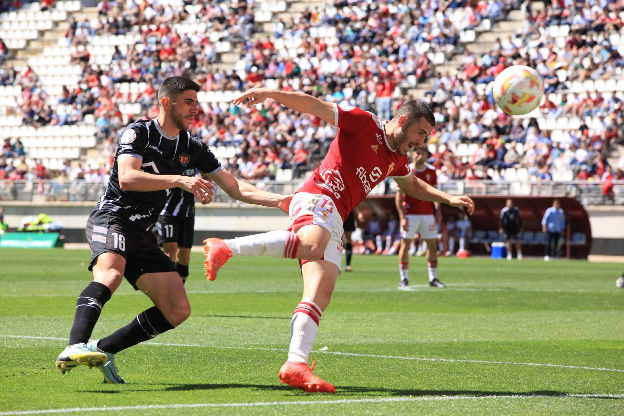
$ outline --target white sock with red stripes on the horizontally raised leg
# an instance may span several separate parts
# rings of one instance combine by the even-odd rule
[[[299,237],[290,231],[270,231],[223,241],[230,247],[233,256],[270,255],[282,259],[295,259],[299,247]]]

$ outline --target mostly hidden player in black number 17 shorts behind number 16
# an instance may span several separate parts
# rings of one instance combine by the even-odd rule
[[[185,170],[183,176],[197,176],[197,169]],[[210,181],[207,176],[203,179]],[[202,204],[206,204],[202,201]],[[193,247],[193,229],[195,227],[195,197],[182,189],[173,189],[169,194],[165,207],[160,211],[158,222],[158,244],[162,245],[169,256],[182,283],[188,277],[191,247]]]

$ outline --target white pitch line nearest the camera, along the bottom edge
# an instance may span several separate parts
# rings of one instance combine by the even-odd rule
[[[293,402],[253,402],[253,403],[197,403],[197,404],[168,404],[168,405],[138,405],[138,406],[110,406],[110,407],[70,407],[67,409],[46,410],[17,410],[0,412],[0,415],[37,415],[48,413],[69,412],[119,412],[122,410],[149,410],[149,409],[198,409],[219,407],[260,407],[260,406],[296,406],[296,405],[333,405],[355,403],[392,403],[392,402],[429,402],[442,400],[477,400],[477,399],[546,399],[546,398],[572,398],[587,399],[592,397],[620,399],[624,394],[514,394],[514,395],[488,395],[488,396],[425,396],[425,397],[381,397],[377,399],[336,399],[336,400],[296,400]]]

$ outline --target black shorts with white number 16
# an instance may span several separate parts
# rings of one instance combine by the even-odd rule
[[[86,233],[91,247],[89,270],[93,271],[93,265],[100,254],[121,254],[125,259],[124,277],[134,290],[139,290],[137,280],[146,273],[176,271],[171,259],[158,247],[153,232],[133,227],[115,212],[107,209],[91,212]]]

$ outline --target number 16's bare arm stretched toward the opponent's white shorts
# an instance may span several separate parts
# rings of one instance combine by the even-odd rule
[[[273,192],[262,191],[245,181],[240,181],[232,176],[227,169],[221,169],[212,179],[230,197],[248,204],[261,205],[265,207],[279,208],[288,214],[292,195],[273,194]]]

